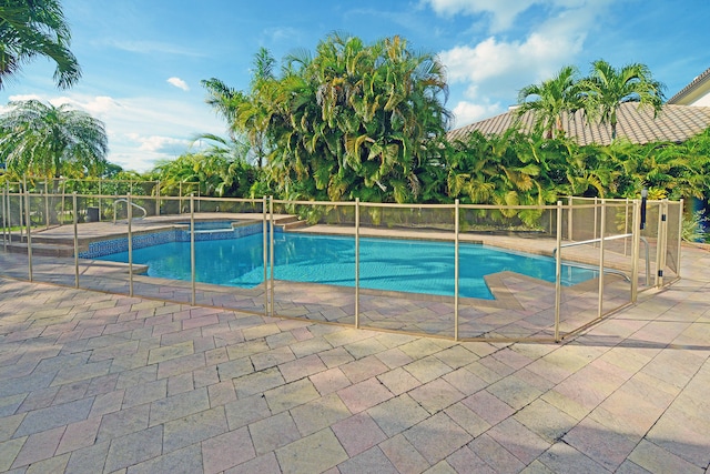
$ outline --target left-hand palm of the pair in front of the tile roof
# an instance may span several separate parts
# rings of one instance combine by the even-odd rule
[[[548,139],[561,135],[562,117],[581,108],[577,68],[566,65],[552,79],[520,89],[518,104],[518,117],[528,111],[535,113],[536,131]]]

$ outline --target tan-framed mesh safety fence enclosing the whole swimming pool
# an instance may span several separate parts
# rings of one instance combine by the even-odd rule
[[[1,274],[459,340],[549,340],[557,317],[565,336],[629,304],[635,284],[680,274],[682,204],[668,201],[641,213],[627,200],[487,206],[44,192],[54,184],[4,186]]]

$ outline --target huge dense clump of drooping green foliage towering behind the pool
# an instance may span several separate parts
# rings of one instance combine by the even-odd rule
[[[436,57],[399,37],[367,46],[334,33],[313,59],[287,58],[281,85],[268,129],[280,181],[331,200],[418,199],[449,119]]]

